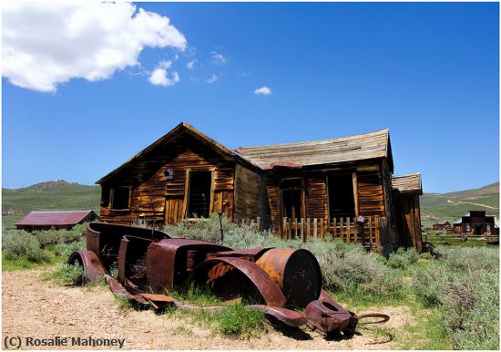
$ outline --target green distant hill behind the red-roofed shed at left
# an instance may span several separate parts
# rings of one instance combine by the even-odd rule
[[[100,186],[84,186],[64,180],[36,183],[15,190],[2,189],[2,227],[14,223],[28,212],[94,210],[99,212]]]

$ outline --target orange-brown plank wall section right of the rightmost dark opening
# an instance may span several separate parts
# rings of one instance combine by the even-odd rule
[[[362,216],[386,216],[383,177],[379,165],[360,166],[356,171],[358,213]]]

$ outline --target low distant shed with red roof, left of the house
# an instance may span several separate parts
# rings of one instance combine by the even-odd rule
[[[98,218],[94,211],[29,212],[15,223],[18,230],[71,230],[78,223],[92,222]]]

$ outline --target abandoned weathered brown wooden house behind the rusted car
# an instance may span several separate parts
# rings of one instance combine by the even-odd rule
[[[330,233],[361,242],[363,226],[373,249],[420,249],[420,175],[393,171],[388,129],[230,150],[182,122],[97,181],[100,218],[163,225],[222,212],[282,237]]]

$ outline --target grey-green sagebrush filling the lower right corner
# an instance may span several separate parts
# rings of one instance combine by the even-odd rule
[[[498,251],[441,251],[440,259],[413,270],[416,296],[424,307],[436,310],[455,349],[498,349]]]

